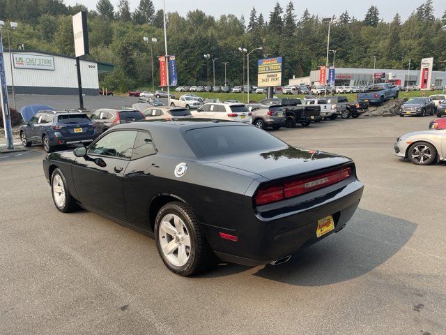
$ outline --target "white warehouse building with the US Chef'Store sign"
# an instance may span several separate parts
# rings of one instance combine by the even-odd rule
[[[75,57],[37,50],[3,50],[6,86],[15,94],[77,95]],[[112,64],[81,59],[82,91],[86,96],[99,94],[99,73],[114,70]]]

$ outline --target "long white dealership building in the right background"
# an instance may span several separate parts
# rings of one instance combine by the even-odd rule
[[[293,78],[290,85],[296,84],[324,84],[319,83],[319,71],[312,70],[309,77]],[[375,73],[375,80],[373,79]],[[334,86],[362,86],[373,82],[393,82],[396,85],[406,86],[420,84],[421,70],[395,70],[390,68],[335,68]],[[444,71],[432,71],[431,85],[442,85],[446,82]]]

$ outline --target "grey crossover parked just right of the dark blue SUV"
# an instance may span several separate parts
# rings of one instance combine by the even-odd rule
[[[104,133],[109,128],[117,124],[126,124],[132,121],[140,121],[146,119],[139,110],[121,109],[112,110],[109,108],[101,108],[95,110],[91,115],[91,119],[95,122],[98,133]]]

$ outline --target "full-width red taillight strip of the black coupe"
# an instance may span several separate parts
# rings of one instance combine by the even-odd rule
[[[255,202],[256,205],[269,204],[287,198],[293,198],[319,188],[327,187],[343,181],[351,176],[351,168],[319,174],[318,176],[298,179],[295,181],[286,181],[277,186],[266,186],[257,191]]]

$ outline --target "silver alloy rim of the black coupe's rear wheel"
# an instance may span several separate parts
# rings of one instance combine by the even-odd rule
[[[164,257],[176,267],[183,267],[190,257],[190,234],[184,221],[175,214],[162,218],[158,233]]]

